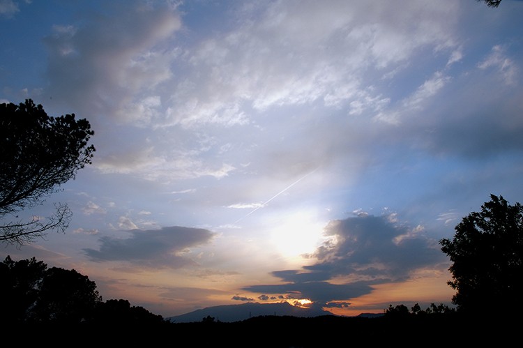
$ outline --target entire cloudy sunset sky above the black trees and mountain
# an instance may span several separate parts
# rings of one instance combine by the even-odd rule
[[[450,301],[439,241],[523,202],[523,1],[0,0],[0,103],[87,119],[91,165],[0,257],[163,317]],[[492,305],[495,305],[494,300]]]

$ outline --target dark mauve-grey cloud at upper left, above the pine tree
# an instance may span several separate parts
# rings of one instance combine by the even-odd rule
[[[161,103],[151,89],[172,77],[176,55],[158,45],[181,28],[181,19],[168,6],[137,1],[104,10],[81,23],[56,26],[45,38],[47,94],[67,100],[79,114],[102,112],[147,124]]]

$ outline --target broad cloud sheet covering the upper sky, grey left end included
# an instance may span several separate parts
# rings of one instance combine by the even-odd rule
[[[183,5],[132,2],[118,15],[55,27],[46,38],[48,89],[96,119],[97,142],[114,134],[108,122],[154,130],[119,131],[132,140],[121,135],[118,151],[97,147],[94,165],[105,174],[172,182],[224,179],[246,172],[250,158],[259,161],[249,170],[274,176],[340,157],[355,163],[381,139],[379,130],[365,131],[370,119],[394,123],[402,114],[391,109],[385,77],[427,48],[456,50],[454,3],[404,6],[401,13],[394,4],[344,1],[238,6],[234,26],[202,39],[200,29],[186,31]],[[443,82],[430,78],[410,103],[421,105]]]

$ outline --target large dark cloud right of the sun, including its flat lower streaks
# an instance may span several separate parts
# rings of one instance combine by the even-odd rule
[[[263,294],[300,294],[316,303],[356,298],[372,285],[407,280],[412,271],[445,262],[437,241],[423,236],[423,229],[397,225],[393,215],[358,215],[335,220],[326,227],[330,242],[317,249],[318,262],[302,270],[273,271],[287,282],[252,285],[243,289]],[[344,284],[330,281],[350,279]]]

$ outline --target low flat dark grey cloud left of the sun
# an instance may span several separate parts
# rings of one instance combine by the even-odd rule
[[[209,243],[213,232],[190,227],[162,227],[158,230],[132,230],[130,238],[103,236],[100,248],[85,248],[93,262],[123,261],[140,266],[179,268],[194,262],[185,255],[189,248]]]

